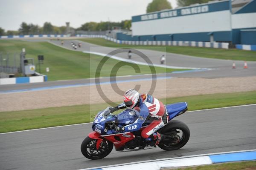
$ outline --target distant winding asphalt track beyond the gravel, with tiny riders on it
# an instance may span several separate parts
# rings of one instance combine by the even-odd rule
[[[57,46],[61,46],[60,40],[45,40],[45,39],[24,39],[26,41],[48,41]],[[115,50],[116,48],[102,47],[95,44],[85,43],[80,40],[64,40],[63,48],[74,50],[71,47],[71,42],[76,44],[81,43],[81,48],[78,48],[77,51],[92,51],[108,54],[109,52]],[[150,49],[150,47],[148,48]],[[163,52],[152,51],[152,50],[141,50],[154,64],[159,64],[159,59]],[[116,55],[121,58],[127,59],[127,53],[120,53]],[[137,55],[132,56],[132,61],[143,61]],[[244,61],[235,61],[236,69],[232,69],[233,61],[229,60],[219,60],[211,58],[199,58],[186,55],[178,55],[173,53],[166,53],[166,65],[167,66],[177,66],[177,67],[195,67],[195,68],[208,68],[212,70],[200,71],[200,72],[181,72],[181,73],[166,73],[157,75],[157,77],[166,76],[166,77],[197,77],[197,78],[226,78],[226,77],[245,77],[245,76],[255,76],[256,75],[256,62],[249,61],[247,62],[249,69],[243,69]],[[134,76],[133,78],[142,79],[142,78],[151,78],[151,75],[141,75]],[[117,80],[129,80],[131,77],[120,77]],[[50,86],[65,86],[65,85],[76,85],[76,84],[87,84],[92,82],[90,79],[80,79],[80,80],[69,80],[69,81],[49,81],[43,83],[33,83],[33,84],[10,84],[10,85],[1,85],[0,92],[10,91],[10,90],[19,90],[19,89],[32,89],[32,88],[42,88]],[[101,82],[110,81],[109,78],[103,78]]]

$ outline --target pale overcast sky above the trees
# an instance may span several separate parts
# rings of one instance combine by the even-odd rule
[[[121,21],[145,14],[152,0],[0,0],[0,27],[17,30],[20,24],[51,22],[78,28],[89,21]],[[175,8],[176,0],[169,0]]]

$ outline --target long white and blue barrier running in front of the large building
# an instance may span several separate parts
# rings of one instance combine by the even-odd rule
[[[105,38],[106,40],[113,41],[114,43],[127,44],[127,45],[143,45],[143,46],[196,46],[207,48],[221,48],[228,49],[229,43],[210,43],[201,41],[128,41],[116,40],[105,35],[76,35],[76,37],[92,37],[92,38]]]

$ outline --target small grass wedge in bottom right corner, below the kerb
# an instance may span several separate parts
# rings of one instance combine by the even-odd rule
[[[173,170],[173,168],[169,170]],[[176,170],[256,170],[256,161],[204,165],[196,167],[178,168]]]

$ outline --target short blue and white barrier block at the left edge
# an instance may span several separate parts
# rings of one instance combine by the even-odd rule
[[[47,75],[18,77],[18,78],[0,78],[0,85],[22,84],[22,83],[40,83],[47,81]]]

